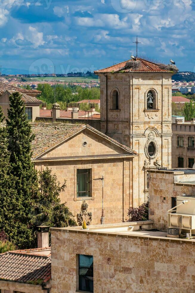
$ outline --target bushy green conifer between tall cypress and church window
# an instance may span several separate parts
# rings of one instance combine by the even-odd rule
[[[66,203],[61,203],[60,193],[66,188],[66,180],[60,185],[55,174],[46,167],[38,173],[39,191],[34,195],[33,205],[35,215],[31,223],[34,232],[37,225],[48,225],[50,227],[77,226],[74,216],[70,212]]]

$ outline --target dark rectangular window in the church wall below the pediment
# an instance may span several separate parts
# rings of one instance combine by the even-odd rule
[[[77,169],[77,197],[90,196],[91,169]]]

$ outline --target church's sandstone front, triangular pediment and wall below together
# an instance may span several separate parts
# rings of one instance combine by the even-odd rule
[[[49,166],[61,184],[66,179],[67,187],[60,194],[61,202],[66,202],[75,220],[86,200],[88,211],[92,213],[91,223],[100,224],[102,181],[93,179],[102,176],[105,223],[128,219],[128,208],[132,206],[132,169],[136,153],[128,153],[108,139],[86,129],[33,160],[38,171]],[[87,143],[86,146],[83,142]],[[77,197],[78,169],[91,170],[90,197]]]

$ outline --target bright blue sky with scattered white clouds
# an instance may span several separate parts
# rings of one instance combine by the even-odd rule
[[[1,0],[3,68],[67,73],[136,54],[195,71],[195,0]],[[3,73],[3,72],[2,72]]]

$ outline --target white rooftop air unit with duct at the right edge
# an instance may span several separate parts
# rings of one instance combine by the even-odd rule
[[[172,213],[175,212],[176,213]],[[195,197],[177,196],[177,205],[168,210],[168,228],[179,228],[184,233],[195,234]],[[194,236],[195,237],[195,236]]]

